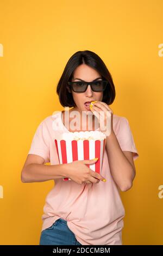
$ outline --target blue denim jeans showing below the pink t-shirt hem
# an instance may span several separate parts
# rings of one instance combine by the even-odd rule
[[[59,218],[51,227],[42,230],[40,245],[81,245],[68,228],[67,221]]]

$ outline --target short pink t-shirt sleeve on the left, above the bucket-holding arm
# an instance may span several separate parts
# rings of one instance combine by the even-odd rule
[[[49,134],[44,120],[37,127],[28,154],[42,156],[45,163],[50,162]]]

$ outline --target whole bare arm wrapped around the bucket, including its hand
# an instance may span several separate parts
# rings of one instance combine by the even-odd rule
[[[41,182],[67,177],[78,184],[98,183],[99,180],[104,181],[104,177],[87,167],[87,164],[93,164],[97,160],[98,158],[47,166],[44,164],[43,157],[28,154],[22,169],[21,180],[22,182]]]

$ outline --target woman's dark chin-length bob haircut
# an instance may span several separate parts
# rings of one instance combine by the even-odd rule
[[[88,50],[78,51],[74,53],[65,66],[64,72],[62,73],[57,86],[57,94],[59,96],[59,101],[61,105],[63,107],[76,106],[73,100],[72,93],[70,89],[68,90],[68,82],[72,81],[74,70],[82,64],[86,64],[91,68],[95,69],[102,76],[103,80],[109,82],[103,92],[102,101],[105,102],[107,105],[111,105],[116,95],[115,86],[112,81],[111,74],[106,68],[103,60],[95,52]]]

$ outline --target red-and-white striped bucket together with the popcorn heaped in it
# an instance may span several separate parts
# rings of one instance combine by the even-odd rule
[[[76,160],[91,160],[98,157],[94,164],[87,166],[101,173],[106,135],[101,131],[80,131],[61,133],[55,139],[60,164]],[[64,178],[64,180],[71,180]]]

